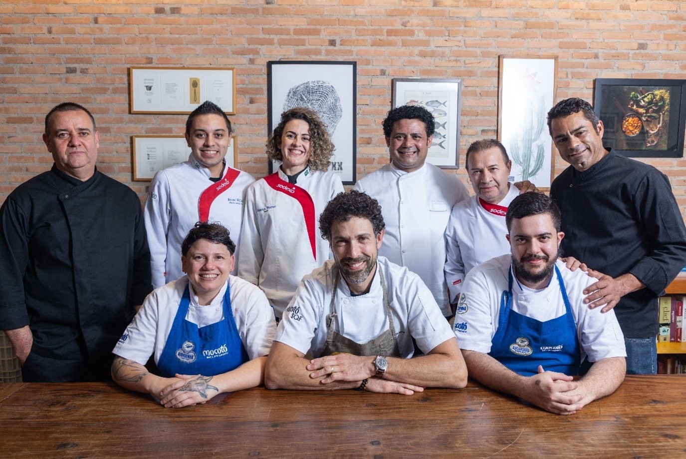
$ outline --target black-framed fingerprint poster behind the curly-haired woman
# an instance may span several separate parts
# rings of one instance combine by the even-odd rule
[[[270,61],[267,63],[268,133],[281,113],[308,107],[318,113],[335,145],[329,170],[345,185],[357,176],[357,63],[329,61]],[[269,172],[278,167],[269,161]]]

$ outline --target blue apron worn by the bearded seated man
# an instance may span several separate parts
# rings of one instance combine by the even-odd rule
[[[579,374],[581,352],[576,323],[558,267],[555,267],[555,274],[567,312],[540,322],[512,311],[512,269],[509,271],[508,290],[503,292],[500,300],[498,329],[488,355],[522,376],[538,374],[539,365],[543,370]]]

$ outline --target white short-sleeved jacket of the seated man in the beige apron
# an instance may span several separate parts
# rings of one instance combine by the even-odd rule
[[[357,343],[366,343],[388,330],[388,316],[383,302],[379,269],[388,290],[388,302],[401,356],[412,357],[417,346],[427,353],[452,339],[450,325],[443,317],[434,296],[415,273],[379,256],[377,271],[368,293],[353,296],[340,277],[336,291],[335,330]],[[331,295],[335,261],[305,276],[279,323],[274,339],[313,357],[320,357],[327,341],[327,317],[331,313]]]

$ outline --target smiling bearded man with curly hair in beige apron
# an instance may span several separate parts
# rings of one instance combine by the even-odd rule
[[[431,291],[378,256],[385,234],[379,202],[355,190],[338,194],[320,216],[320,232],[333,260],[303,278],[285,310],[266,387],[407,395],[463,388],[464,359]],[[414,359],[413,338],[425,353]]]

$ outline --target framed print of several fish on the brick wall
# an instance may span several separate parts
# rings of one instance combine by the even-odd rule
[[[462,80],[393,78],[392,107],[421,105],[434,115],[436,131],[427,162],[444,169],[460,167]]]

